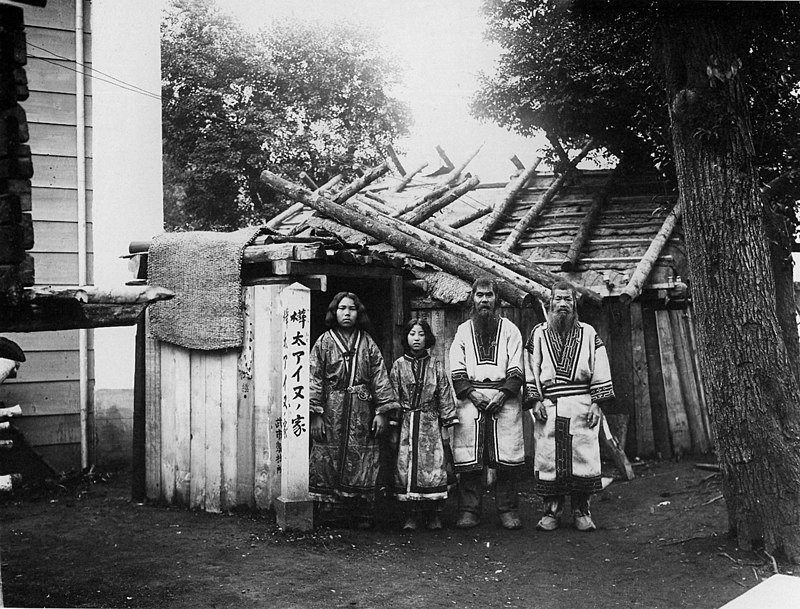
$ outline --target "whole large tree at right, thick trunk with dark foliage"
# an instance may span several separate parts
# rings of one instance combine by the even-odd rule
[[[775,213],[800,199],[800,5],[485,4],[506,53],[479,114],[674,172],[729,524],[800,562],[790,214]]]

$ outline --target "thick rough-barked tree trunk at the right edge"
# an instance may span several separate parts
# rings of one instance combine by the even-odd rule
[[[775,305],[749,110],[727,5],[661,17],[700,367],[729,524],[800,561],[800,387]]]

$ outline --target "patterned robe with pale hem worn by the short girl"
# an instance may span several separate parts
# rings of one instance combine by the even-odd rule
[[[404,355],[389,377],[400,398],[402,421],[395,470],[400,501],[447,499],[442,427],[458,423],[450,383],[441,364],[426,354]]]

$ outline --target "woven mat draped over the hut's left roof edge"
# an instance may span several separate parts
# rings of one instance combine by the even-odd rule
[[[242,254],[263,228],[165,233],[153,239],[147,282],[175,292],[150,306],[153,338],[187,349],[242,346]]]

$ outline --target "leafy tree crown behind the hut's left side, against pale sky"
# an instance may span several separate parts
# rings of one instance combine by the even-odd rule
[[[214,0],[162,23],[165,221],[230,229],[285,207],[264,169],[317,183],[376,164],[407,131],[396,67],[358,27],[276,21],[250,34]]]

